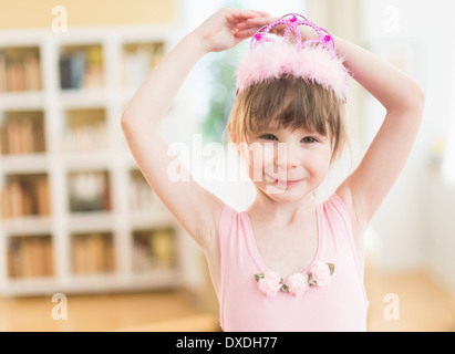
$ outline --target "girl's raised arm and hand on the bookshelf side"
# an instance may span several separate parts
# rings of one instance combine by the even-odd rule
[[[223,202],[194,180],[173,181],[168,178],[168,165],[175,164],[175,157],[168,155],[159,125],[197,61],[208,52],[230,49],[250,37],[254,30],[239,31],[238,24],[261,15],[266,13],[227,9],[216,12],[185,35],[148,74],[122,115],[124,135],[144,177],[205,250],[213,247],[210,240],[217,231]],[[182,164],[179,167],[185,169]]]

